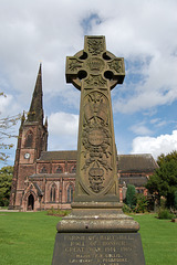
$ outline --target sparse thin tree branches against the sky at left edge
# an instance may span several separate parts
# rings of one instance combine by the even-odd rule
[[[3,93],[0,96],[7,97]],[[7,150],[13,147],[12,144],[6,144],[6,140],[12,137],[17,137],[12,130],[12,127],[17,125],[21,115],[8,116],[0,118],[0,161],[7,161],[9,158]]]

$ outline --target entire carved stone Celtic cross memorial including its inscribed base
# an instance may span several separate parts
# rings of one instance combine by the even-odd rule
[[[81,91],[76,184],[53,265],[145,265],[139,225],[118,198],[111,89],[124,77],[124,59],[106,51],[104,36],[85,36],[84,50],[66,59],[66,82]]]

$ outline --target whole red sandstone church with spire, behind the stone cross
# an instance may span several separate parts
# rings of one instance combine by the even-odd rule
[[[117,155],[119,199],[126,186],[146,194],[145,183],[157,168],[152,155]],[[75,189],[76,151],[48,151],[43,121],[41,65],[27,118],[22,117],[15,151],[9,209],[39,211],[70,209]]]

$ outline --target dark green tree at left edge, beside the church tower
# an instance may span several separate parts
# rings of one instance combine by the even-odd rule
[[[13,177],[13,167],[8,166],[0,169],[0,206],[8,206]]]

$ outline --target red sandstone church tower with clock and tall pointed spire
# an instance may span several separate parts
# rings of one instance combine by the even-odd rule
[[[19,129],[14,160],[14,172],[9,209],[21,209],[25,179],[37,172],[35,161],[48,147],[48,123],[43,124],[42,66],[40,64],[37,83],[27,118],[24,114]]]

